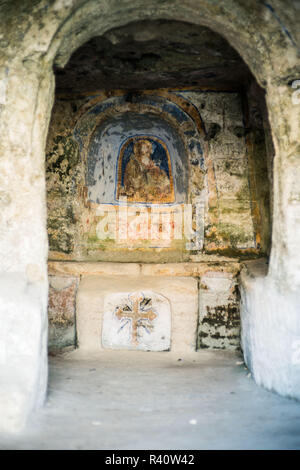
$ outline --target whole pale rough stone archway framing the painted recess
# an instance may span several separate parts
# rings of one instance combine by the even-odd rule
[[[42,0],[35,6],[31,2],[23,2],[17,8],[12,4],[1,6],[1,14],[7,19],[2,25],[2,37],[8,39],[1,45],[0,64],[4,430],[23,426],[29,412],[43,403],[46,393],[44,148],[54,96],[53,63],[64,65],[74,50],[97,34],[147,18],[188,22],[192,19],[195,24],[218,30],[267,90],[276,149],[271,264],[268,278],[251,281],[251,285],[247,280],[244,282],[247,332],[252,335],[251,340],[245,336],[244,341],[248,345],[252,341],[246,359],[256,380],[281,393],[299,396],[299,369],[297,364],[293,368],[293,351],[285,351],[286,345],[292,344],[299,334],[299,300],[295,291],[300,284],[300,258],[296,255],[300,231],[297,190],[300,109],[292,100],[295,90],[289,85],[299,74],[297,18],[285,14],[284,2],[272,3],[276,14],[275,6],[268,8],[254,0],[243,6],[237,0],[217,5],[212,0],[200,4],[194,0],[185,3],[153,0],[146,6],[142,1],[132,4],[117,0],[57,0],[51,7]],[[280,17],[282,21],[278,21]],[[278,280],[281,292],[277,289]],[[258,313],[262,291],[267,315],[261,322]],[[282,309],[287,311],[285,315]],[[267,351],[262,346],[261,328],[275,329],[277,336],[281,334],[276,338],[276,334],[270,333],[274,343],[271,341]],[[287,376],[288,370],[291,372]]]

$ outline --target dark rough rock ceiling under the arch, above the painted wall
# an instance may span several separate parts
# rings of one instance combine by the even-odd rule
[[[141,90],[178,86],[243,88],[251,74],[239,54],[210,29],[177,21],[141,21],[93,37],[64,69],[56,90]]]

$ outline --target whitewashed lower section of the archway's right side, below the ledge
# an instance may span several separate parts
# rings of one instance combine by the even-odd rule
[[[245,263],[241,272],[245,362],[259,385],[300,399],[299,294],[282,292],[266,273],[263,261]]]

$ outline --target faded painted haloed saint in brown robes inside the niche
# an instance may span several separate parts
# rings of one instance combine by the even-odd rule
[[[127,196],[128,201],[136,202],[160,203],[172,200],[170,175],[152,158],[152,152],[150,140],[139,139],[134,142],[119,196]],[[167,155],[165,158],[168,158]]]

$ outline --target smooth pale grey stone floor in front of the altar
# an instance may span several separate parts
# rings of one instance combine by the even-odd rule
[[[49,396],[1,449],[300,449],[300,403],[259,388],[241,356],[73,351]]]

